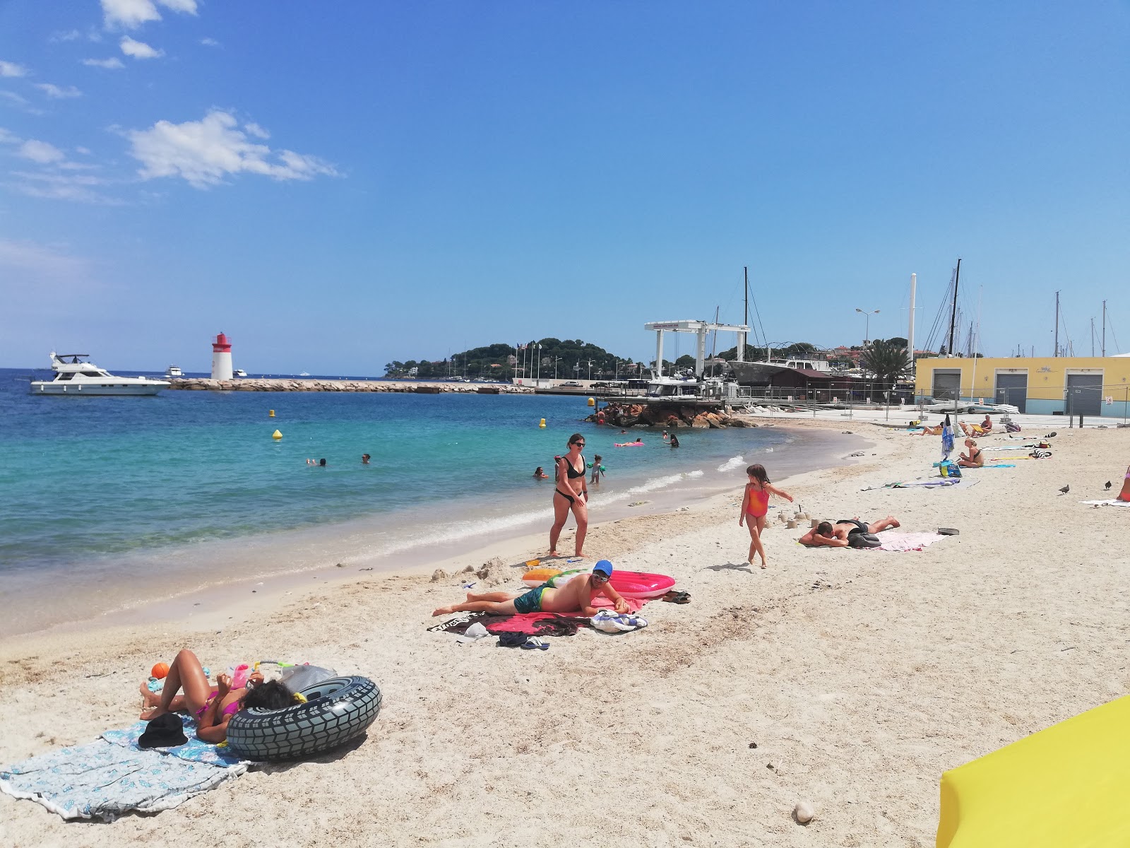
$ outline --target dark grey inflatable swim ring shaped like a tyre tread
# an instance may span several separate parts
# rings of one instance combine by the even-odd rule
[[[365,733],[381,711],[368,677],[330,677],[301,690],[306,703],[281,710],[240,710],[227,724],[227,746],[246,760],[294,760],[322,753]]]

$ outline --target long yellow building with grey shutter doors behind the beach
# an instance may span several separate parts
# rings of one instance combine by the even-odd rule
[[[1028,415],[1130,414],[1130,356],[935,357],[915,366],[914,393],[927,403],[957,397]]]

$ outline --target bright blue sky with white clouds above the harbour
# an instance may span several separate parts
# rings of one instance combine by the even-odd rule
[[[1128,44],[1113,0],[0,0],[0,365],[646,360],[742,266],[770,341],[904,336],[911,272],[924,340],[958,256],[986,354],[1057,289],[1130,351]]]

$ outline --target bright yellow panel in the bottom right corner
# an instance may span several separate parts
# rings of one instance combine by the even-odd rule
[[[941,776],[938,848],[1130,846],[1130,696]]]

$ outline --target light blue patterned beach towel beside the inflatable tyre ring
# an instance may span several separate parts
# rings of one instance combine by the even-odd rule
[[[183,719],[188,722],[188,718]],[[249,763],[195,738],[171,749],[142,751],[145,722],[108,730],[72,745],[0,769],[0,791],[42,804],[63,819],[111,822],[130,812],[156,813],[180,806],[247,770]]]

